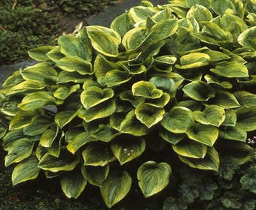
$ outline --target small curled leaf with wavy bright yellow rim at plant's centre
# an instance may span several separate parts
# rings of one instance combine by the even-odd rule
[[[163,91],[157,89],[153,83],[147,81],[140,81],[134,83],[132,87],[133,95],[142,96],[144,98],[160,98]]]

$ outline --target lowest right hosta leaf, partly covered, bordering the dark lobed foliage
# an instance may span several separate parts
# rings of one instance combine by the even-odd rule
[[[178,155],[178,158],[188,166],[197,169],[218,171],[220,164],[218,152],[214,147],[208,147],[206,156],[204,158],[184,157],[181,155]]]

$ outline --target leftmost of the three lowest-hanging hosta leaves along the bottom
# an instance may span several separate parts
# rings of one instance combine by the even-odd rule
[[[86,185],[87,180],[84,179],[81,172],[69,172],[60,178],[60,186],[68,198],[77,199],[84,191]]]

